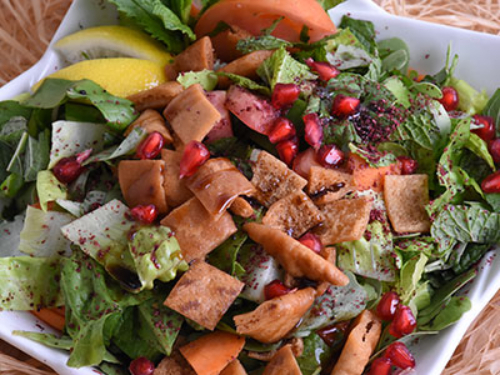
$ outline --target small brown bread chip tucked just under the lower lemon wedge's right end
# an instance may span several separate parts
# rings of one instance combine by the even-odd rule
[[[134,102],[135,109],[139,112],[146,109],[162,110],[183,90],[184,87],[179,82],[165,82],[149,90],[130,95],[127,99]]]

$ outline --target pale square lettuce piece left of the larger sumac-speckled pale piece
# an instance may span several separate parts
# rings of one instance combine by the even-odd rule
[[[24,227],[19,236],[19,250],[35,257],[69,255],[70,242],[62,235],[61,227],[73,219],[73,216],[62,212],[45,212],[28,206]]]

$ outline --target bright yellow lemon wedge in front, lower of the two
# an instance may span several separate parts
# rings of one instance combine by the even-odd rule
[[[90,79],[109,93],[123,98],[167,81],[163,64],[131,58],[81,61],[46,78]],[[32,90],[36,91],[46,78],[35,84]]]

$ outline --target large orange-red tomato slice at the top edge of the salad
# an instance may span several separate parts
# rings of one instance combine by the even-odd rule
[[[284,17],[273,35],[292,42],[300,39],[303,26],[311,42],[335,33],[335,25],[316,0],[221,0],[196,24],[198,37],[213,31],[220,21],[259,35],[273,21]]]

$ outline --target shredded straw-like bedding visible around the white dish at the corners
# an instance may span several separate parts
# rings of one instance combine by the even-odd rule
[[[376,0],[387,11],[500,34],[500,0]],[[71,0],[0,0],[0,86],[45,51]],[[443,375],[500,375],[500,293],[468,330]],[[0,374],[51,375],[50,369],[0,340]]]

